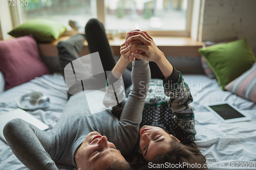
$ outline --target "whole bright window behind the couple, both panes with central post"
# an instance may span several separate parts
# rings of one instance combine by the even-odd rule
[[[127,32],[136,28],[153,36],[190,36],[189,0],[28,0],[20,6],[22,21],[47,18],[69,20],[85,26],[90,18],[104,22],[108,32]]]

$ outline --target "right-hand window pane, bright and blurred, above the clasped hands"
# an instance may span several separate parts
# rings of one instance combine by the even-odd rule
[[[184,31],[187,0],[106,0],[106,29]]]

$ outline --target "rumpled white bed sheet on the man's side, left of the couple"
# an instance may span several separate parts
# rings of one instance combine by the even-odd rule
[[[29,112],[47,124],[50,127],[50,131],[57,123],[57,120],[67,103],[67,87],[60,74],[44,75],[0,93],[0,114],[4,114],[7,111],[17,108],[17,100],[20,96],[30,93],[33,90],[39,90],[50,98],[50,106],[47,110],[44,111],[38,109]],[[58,168],[63,170],[73,169],[66,166],[58,166]],[[0,139],[0,169],[28,169],[16,158],[10,147],[8,147],[2,139]]]

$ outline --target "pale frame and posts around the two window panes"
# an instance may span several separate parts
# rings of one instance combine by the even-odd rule
[[[105,3],[104,0],[96,0],[97,2],[97,18],[99,21],[105,24]],[[146,30],[152,36],[182,36],[190,37],[191,31],[191,19],[193,13],[193,2],[194,0],[187,1],[187,17],[186,17],[186,28],[183,31],[151,31]],[[16,27],[23,23],[20,6],[10,6],[12,25]]]

